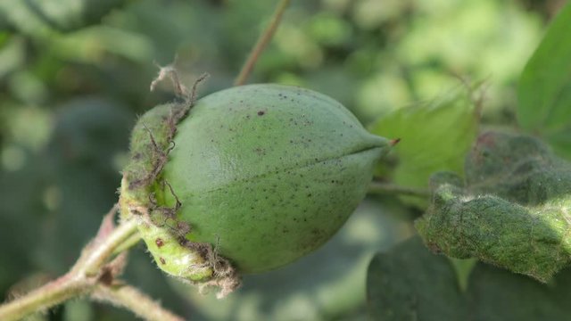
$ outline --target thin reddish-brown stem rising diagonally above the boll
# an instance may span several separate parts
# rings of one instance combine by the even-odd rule
[[[277,26],[279,26],[279,22],[282,20],[285,8],[287,8],[289,2],[290,0],[281,0],[279,4],[277,4],[276,11],[272,15],[272,20],[269,22],[268,27],[266,27],[266,29],[261,33],[261,36],[258,38],[258,42],[256,42],[256,45],[254,45],[252,52],[248,56],[248,59],[246,60],[246,62],[244,62],[242,70],[240,70],[238,77],[236,77],[236,80],[234,81],[234,86],[240,86],[245,84],[246,79],[252,72],[253,66],[256,64],[261,53],[269,44],[269,40],[271,40],[271,37],[274,36]]]

